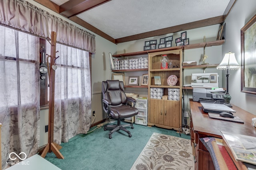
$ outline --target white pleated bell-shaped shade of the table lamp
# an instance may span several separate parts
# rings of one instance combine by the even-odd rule
[[[219,70],[238,70],[239,68],[240,65],[236,61],[235,53],[231,52],[226,53],[221,63],[217,66]]]

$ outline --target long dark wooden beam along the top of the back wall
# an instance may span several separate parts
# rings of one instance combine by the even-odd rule
[[[128,42],[128,41],[134,41],[137,39],[143,39],[143,38],[154,37],[154,36],[158,36],[158,35],[164,35],[164,34],[168,34],[168,33],[175,33],[178,31],[184,31],[184,30],[188,30],[188,29],[195,29],[195,28],[199,28],[199,27],[215,25],[215,24],[222,23],[222,22],[223,22],[223,16],[217,16],[217,17],[208,18],[205,20],[194,21],[194,22],[185,23],[182,25],[176,25],[173,27],[167,27],[167,28],[163,28],[163,29],[149,31],[146,33],[140,33],[140,34],[131,35],[128,37],[118,38],[118,39],[116,39],[115,43],[118,44],[118,43],[124,43],[124,42]]]

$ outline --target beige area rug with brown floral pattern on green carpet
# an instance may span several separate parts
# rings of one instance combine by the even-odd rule
[[[193,170],[190,140],[153,133],[131,170]]]

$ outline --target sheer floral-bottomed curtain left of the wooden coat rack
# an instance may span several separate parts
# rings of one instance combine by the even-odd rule
[[[39,145],[39,38],[0,26],[2,167],[10,152],[27,157]],[[23,156],[23,155],[22,155]]]

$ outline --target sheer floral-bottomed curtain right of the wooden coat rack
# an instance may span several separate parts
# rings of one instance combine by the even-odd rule
[[[46,46],[50,54],[50,44]],[[91,82],[89,53],[56,44],[54,142],[68,142],[91,125]],[[49,91],[49,90],[48,90]]]

